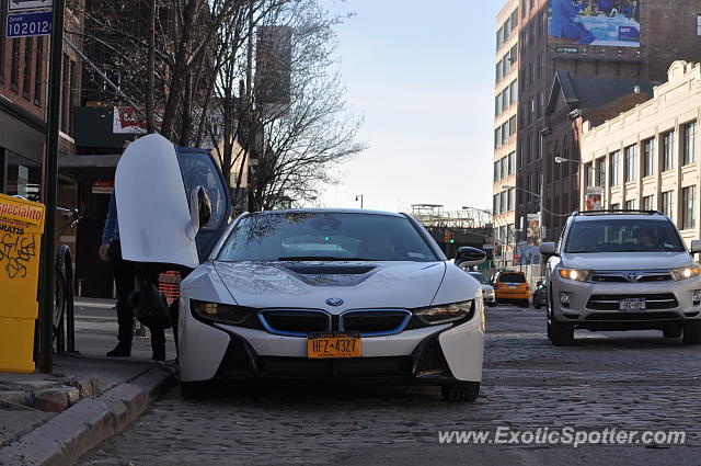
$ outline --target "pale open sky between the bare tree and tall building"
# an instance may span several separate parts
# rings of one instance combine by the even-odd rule
[[[352,111],[369,146],[326,186],[326,207],[491,208],[494,22],[502,1],[322,0],[337,26]]]

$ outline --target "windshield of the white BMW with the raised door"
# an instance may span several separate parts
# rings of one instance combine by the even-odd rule
[[[438,258],[409,219],[356,213],[250,215],[231,231],[221,261],[414,261]]]

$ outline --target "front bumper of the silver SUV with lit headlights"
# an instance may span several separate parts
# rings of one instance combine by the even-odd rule
[[[590,330],[664,329],[701,318],[701,305],[692,295],[701,280],[659,283],[589,283],[554,276],[551,280],[552,310],[558,321]],[[566,294],[567,306],[561,304]],[[621,311],[621,298],[646,298],[646,309]]]

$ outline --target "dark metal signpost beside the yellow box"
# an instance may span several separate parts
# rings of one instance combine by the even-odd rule
[[[51,24],[51,55],[49,64],[48,109],[46,123],[46,152],[44,157],[44,249],[42,250],[42,293],[39,308],[39,371],[51,373],[53,361],[53,307],[55,268],[56,190],[58,185],[58,124],[61,98],[61,61],[64,57],[64,9],[66,0],[54,0]],[[67,103],[68,104],[68,103]]]

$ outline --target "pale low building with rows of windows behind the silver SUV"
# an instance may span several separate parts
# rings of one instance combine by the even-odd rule
[[[675,61],[654,98],[599,125],[583,117],[582,182],[606,208],[660,211],[701,238],[701,66]],[[584,202],[581,202],[584,209]]]

